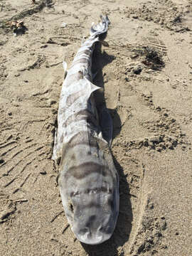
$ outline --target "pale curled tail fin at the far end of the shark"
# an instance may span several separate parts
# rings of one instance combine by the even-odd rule
[[[92,27],[90,28],[90,36],[92,37],[99,37],[102,36],[102,38],[100,39],[104,39],[103,37],[106,36],[107,30],[108,30],[108,26],[110,25],[110,20],[109,18],[106,16],[100,16],[100,18],[102,19],[102,21],[96,25],[92,25]]]

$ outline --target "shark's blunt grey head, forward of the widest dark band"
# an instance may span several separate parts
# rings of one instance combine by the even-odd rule
[[[86,181],[68,179],[68,185],[60,186],[60,195],[70,227],[80,242],[97,245],[112,236],[119,213],[117,180],[93,170]]]

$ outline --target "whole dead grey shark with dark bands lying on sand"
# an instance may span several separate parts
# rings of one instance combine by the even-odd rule
[[[92,52],[110,24],[107,16],[101,18],[63,82],[53,148],[53,159],[60,159],[58,184],[65,215],[76,238],[90,245],[112,236],[119,214],[119,176],[92,94],[100,89],[92,84]]]

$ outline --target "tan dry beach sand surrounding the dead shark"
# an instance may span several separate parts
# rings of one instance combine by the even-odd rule
[[[0,1],[0,255],[192,255],[191,11],[187,0]],[[68,227],[50,157],[61,62],[102,13],[95,84],[114,122],[120,209],[112,238],[88,246]]]

